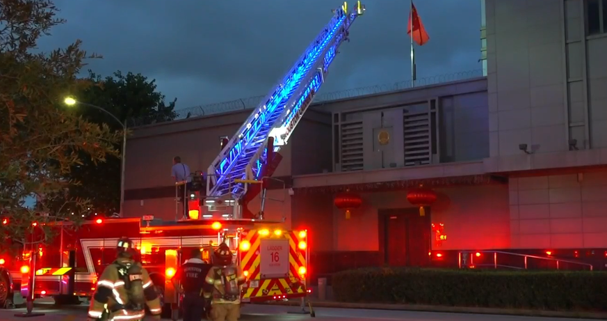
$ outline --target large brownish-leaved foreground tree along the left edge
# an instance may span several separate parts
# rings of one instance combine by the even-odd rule
[[[87,55],[76,40],[64,49],[35,52],[36,42],[48,36],[58,9],[50,0],[0,0],[0,238],[3,244],[23,246],[51,237],[52,221],[77,221],[72,211],[86,209],[82,198],[65,198],[77,185],[66,180],[81,164],[81,155],[104,162],[118,155],[114,144],[120,132],[91,123],[66,110],[66,94],[82,91],[77,81]],[[26,198],[35,197],[34,208]],[[62,199],[51,211],[49,200]],[[33,235],[36,229],[36,238]],[[3,246],[6,249],[6,246]]]

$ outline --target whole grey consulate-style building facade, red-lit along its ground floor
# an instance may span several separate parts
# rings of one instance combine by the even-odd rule
[[[317,275],[462,251],[607,258],[607,0],[482,8],[486,77],[315,104],[281,150],[266,219],[309,228]],[[172,157],[206,171],[247,115],[134,130],[125,213],[172,219]],[[420,187],[437,196],[423,216]],[[346,191],[362,201],[349,219]]]

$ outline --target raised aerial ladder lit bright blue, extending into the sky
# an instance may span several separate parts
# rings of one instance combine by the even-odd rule
[[[207,171],[207,197],[241,198],[246,184],[235,180],[256,180],[266,160],[268,137],[274,137],[277,152],[286,145],[305,110],[324,81],[337,49],[348,36],[356,17],[364,13],[357,1],[348,12],[344,2],[334,10],[331,21],[323,28],[296,65],[273,91],[261,100],[245,123],[213,160]]]

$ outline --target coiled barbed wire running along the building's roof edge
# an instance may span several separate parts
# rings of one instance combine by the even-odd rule
[[[430,86],[435,84],[443,84],[451,81],[472,79],[476,77],[483,77],[482,69],[468,70],[464,72],[454,72],[451,74],[436,75],[431,77],[423,77],[420,79],[416,79],[415,86]],[[332,102],[334,100],[343,100],[359,96],[389,93],[392,91],[401,91],[412,87],[412,81],[406,80],[398,81],[394,84],[382,84],[375,86],[352,88],[347,89],[345,91],[334,91],[332,93],[323,93],[321,95],[316,95],[312,104],[318,104],[321,102],[326,104],[327,102]],[[190,108],[177,109],[175,110],[175,113],[177,113],[177,117],[175,117],[175,120],[193,118],[197,116],[208,116],[216,113],[227,113],[230,111],[254,109],[259,105],[259,102],[261,102],[264,97],[264,95],[253,96],[247,98],[239,98],[237,100],[230,100],[227,102],[216,102],[213,104],[205,104]],[[129,120],[130,127],[150,125],[154,123],[161,123],[161,121],[154,117],[131,118]]]

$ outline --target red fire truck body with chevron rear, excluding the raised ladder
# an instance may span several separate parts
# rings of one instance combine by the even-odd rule
[[[115,260],[115,246],[123,236],[130,237],[138,247],[137,259],[152,277],[165,311],[177,307],[170,279],[186,260],[181,253],[201,249],[203,259],[211,260],[213,250],[221,242],[232,248],[235,262],[247,277],[242,302],[300,298],[308,292],[305,282],[308,231],[286,230],[278,222],[234,219],[166,222],[145,217],[97,219],[79,228],[69,223],[56,224],[56,228],[56,242],[40,247],[35,267],[23,264],[28,261],[15,260],[17,264],[6,265],[8,269],[3,270],[3,276],[13,279],[13,288],[20,283],[24,297],[28,295],[31,268],[35,269],[36,296],[54,297],[58,304],[77,304],[78,297],[91,297],[97,276]],[[31,253],[26,253],[27,258],[30,256]],[[6,259],[3,260],[6,264]],[[4,285],[8,296],[10,283]]]

